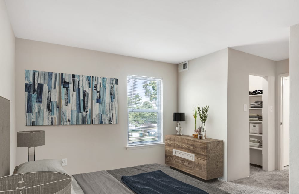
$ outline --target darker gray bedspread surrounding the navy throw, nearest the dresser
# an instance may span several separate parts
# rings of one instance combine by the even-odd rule
[[[226,191],[223,191],[221,189],[215,188],[211,185],[208,185],[202,181],[199,181],[195,178],[192,178],[188,175],[184,175],[176,170],[170,169],[169,167],[163,166],[161,164],[145,164],[145,165],[140,165],[140,166],[135,166],[135,167],[128,167],[128,168],[120,168],[120,169],[115,169],[115,170],[107,170],[109,174],[111,174],[113,177],[115,177],[118,181],[120,181],[125,187],[127,187],[122,181],[121,177],[122,176],[132,176],[132,175],[137,175],[139,173],[144,173],[144,172],[151,172],[151,171],[156,171],[156,170],[161,170],[165,174],[178,179],[179,181],[182,181],[184,183],[193,185],[194,187],[198,187],[207,193],[210,194],[229,194]],[[127,187],[128,188],[128,187]],[[129,188],[128,188],[129,189]]]

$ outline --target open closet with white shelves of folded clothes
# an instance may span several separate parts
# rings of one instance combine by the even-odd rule
[[[251,93],[254,92],[254,93]],[[267,149],[268,127],[268,81],[261,76],[249,76],[249,154],[250,164],[263,167],[268,162],[264,149]],[[264,154],[264,155],[263,155]],[[264,168],[263,168],[264,170]]]

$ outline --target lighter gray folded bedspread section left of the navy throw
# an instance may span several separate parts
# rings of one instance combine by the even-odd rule
[[[107,171],[73,175],[85,194],[132,194],[123,184]]]

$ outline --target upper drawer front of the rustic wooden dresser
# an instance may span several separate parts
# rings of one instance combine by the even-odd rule
[[[195,158],[207,161],[207,144],[192,138],[185,138],[184,136],[167,136],[167,138],[165,138],[165,150],[171,152],[172,149],[180,150],[194,154]]]

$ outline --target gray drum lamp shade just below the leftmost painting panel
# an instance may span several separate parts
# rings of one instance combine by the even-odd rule
[[[19,131],[18,147],[37,147],[45,145],[45,131]]]

